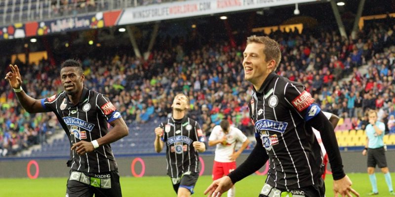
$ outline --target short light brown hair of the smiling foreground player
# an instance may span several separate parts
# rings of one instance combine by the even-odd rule
[[[281,61],[281,50],[278,42],[276,42],[276,40],[268,36],[251,35],[247,37],[247,45],[251,43],[261,43],[265,45],[265,47],[263,48],[263,54],[265,54],[266,56],[265,61],[266,62],[269,62],[271,60],[276,61],[276,66],[273,70],[275,71]]]

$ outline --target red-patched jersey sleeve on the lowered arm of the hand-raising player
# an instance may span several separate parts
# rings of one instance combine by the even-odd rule
[[[96,107],[99,108],[99,116],[105,117],[108,123],[121,118],[120,112],[111,103],[110,99],[102,94],[99,94],[96,98]]]

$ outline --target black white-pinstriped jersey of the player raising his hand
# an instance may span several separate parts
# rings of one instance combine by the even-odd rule
[[[93,141],[106,135],[109,131],[108,123],[121,117],[110,99],[85,87],[76,105],[69,100],[65,91],[41,99],[41,105],[56,114],[69,137],[70,146],[80,140]],[[110,144],[100,146],[85,155],[78,155],[76,150],[70,151],[67,164],[74,170],[91,173],[117,170]]]

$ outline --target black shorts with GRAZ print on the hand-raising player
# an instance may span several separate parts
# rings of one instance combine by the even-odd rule
[[[118,171],[87,173],[70,170],[66,197],[122,197]]]

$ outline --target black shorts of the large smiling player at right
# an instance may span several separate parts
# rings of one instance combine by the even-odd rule
[[[262,188],[259,197],[286,197],[297,196],[297,197],[325,197],[325,183],[320,178],[316,185],[311,185],[298,189],[280,189],[265,184]]]

